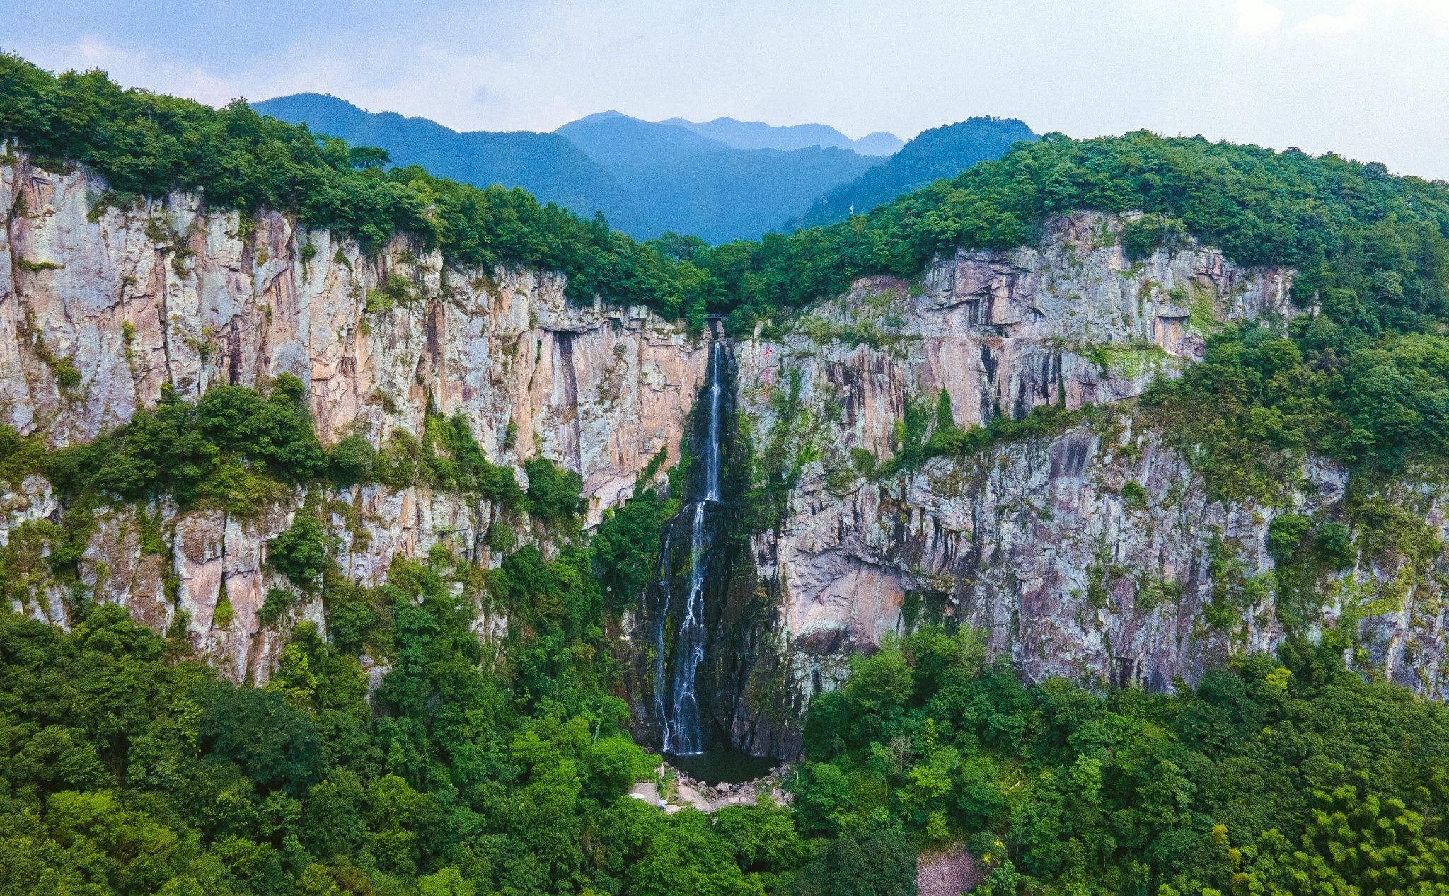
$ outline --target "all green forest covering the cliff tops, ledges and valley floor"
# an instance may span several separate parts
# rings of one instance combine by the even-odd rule
[[[536,457],[514,476],[430,400],[422,438],[325,448],[307,386],[288,374],[196,400],[168,387],[59,449],[0,428],[0,487],[43,483],[57,502],[54,519],[28,519],[0,547],[0,893],[904,896],[919,851],[962,847],[993,896],[1449,892],[1449,710],[1346,668],[1350,621],[1294,615],[1321,603],[1324,570],[1442,549],[1374,489],[1440,476],[1449,452],[1449,184],[1195,138],[1046,135],[869,215],[710,246],[640,242],[522,190],[381,170],[365,148],[243,103],[210,109],[16,57],[0,57],[0,139],[6,165],[26,154],[88,167],[114,206],[180,188],[243,222],[281,210],[367,249],[404,233],[480,280],[498,265],[556,270],[581,303],[646,306],[696,332],[707,313],[735,333],[772,332],[861,275],[913,278],[958,248],[1016,251],[1072,210],[1142,212],[1122,235],[1127,262],[1197,238],[1242,264],[1291,267],[1306,312],[1213,328],[1204,361],[1159,383],[1143,420],[1214,497],[1264,507],[1287,506],[1291,461],[1336,460],[1362,523],[1355,536],[1275,516],[1274,587],[1291,597],[1272,621],[1277,655],[1236,654],[1171,693],[1024,684],[971,631],[926,625],[816,697],[793,808],[665,815],[625,796],[658,760],[626,729],[616,651],[688,457],[661,452],[638,481],[668,490],[646,487],[585,531],[577,473]],[[380,287],[369,313],[416,302],[406,281]],[[80,384],[64,358],[48,365]],[[809,425],[798,389],[772,393],[785,429]],[[904,410],[893,458],[867,457],[875,481],[1071,416],[962,429],[943,405]],[[798,474],[782,441],[761,434],[769,477],[743,497],[758,512],[746,525],[768,528]],[[358,584],[323,519],[364,484],[487,505],[500,565],[439,547]],[[77,574],[107,507],[135,507],[141,551],[159,554],[162,506],[243,518],[280,496],[298,503],[268,544],[287,589],[262,613],[275,622],[317,597],[322,615],[287,628],[264,686],[191,655],[184,621],[152,631]],[[42,576],[68,584],[70,631],[12,612]],[[480,638],[481,615],[507,619],[506,636]]]

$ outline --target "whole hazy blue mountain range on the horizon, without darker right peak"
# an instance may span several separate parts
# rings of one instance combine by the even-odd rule
[[[354,145],[380,146],[398,165],[422,165],[480,187],[523,187],[540,202],[585,216],[603,212],[614,228],[639,239],[665,231],[709,242],[758,238],[880,161],[826,146],[827,141],[853,146],[895,139],[851,141],[824,125],[774,128],[733,119],[684,126],[671,123],[682,119],[645,122],[617,112],[585,116],[554,133],[458,132],[317,93],[252,107]]]

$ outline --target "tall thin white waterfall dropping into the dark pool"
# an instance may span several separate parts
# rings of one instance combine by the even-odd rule
[[[700,663],[704,661],[704,573],[709,567],[707,548],[704,544],[704,515],[709,505],[720,500],[720,374],[723,351],[716,339],[710,345],[710,381],[709,402],[706,405],[709,420],[706,423],[704,442],[704,483],[703,497],[688,502],[680,516],[690,513],[690,587],[684,600],[680,619],[680,632],[675,638],[674,686],[665,681],[664,664],[664,626],[668,621],[672,576],[669,563],[669,534],[665,534],[664,552],[659,557],[659,594],[662,610],[659,613],[658,635],[655,647],[655,710],[664,728],[664,752],[687,755],[704,750],[700,734],[700,706],[696,699],[694,680]],[[677,516],[675,520],[680,518]],[[672,532],[672,520],[669,531]],[[669,693],[668,709],[664,694]]]

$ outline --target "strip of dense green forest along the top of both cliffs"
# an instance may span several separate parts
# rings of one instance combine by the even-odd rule
[[[214,207],[278,209],[368,245],[412,233],[455,264],[558,268],[575,297],[642,303],[668,318],[709,310],[748,320],[798,307],[862,274],[914,275],[955,246],[1019,246],[1046,216],[1075,209],[1164,215],[1242,264],[1293,265],[1304,303],[1352,291],[1330,315],[1364,325],[1413,328],[1445,304],[1449,186],[1201,138],[1053,133],[868,216],[706,246],[639,244],[522,190],[359,168],[341,141],[242,101],[212,109],[123,90],[99,71],[54,75],[17,57],[0,58],[0,136],[38,161],[84,162],[117,191],[197,190]]]

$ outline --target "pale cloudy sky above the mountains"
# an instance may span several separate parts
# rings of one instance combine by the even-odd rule
[[[0,48],[220,104],[332,93],[458,130],[974,115],[1449,178],[1449,0],[0,0]]]

